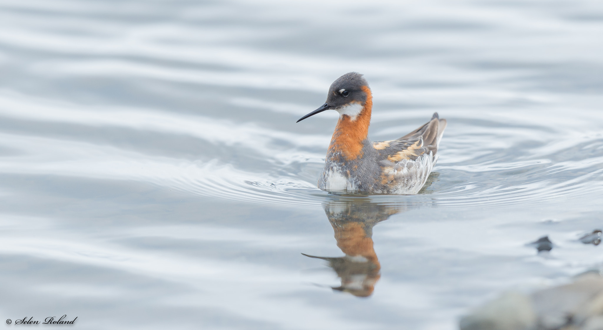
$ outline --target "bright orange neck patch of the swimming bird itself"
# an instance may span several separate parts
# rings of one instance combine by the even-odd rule
[[[355,120],[352,120],[347,114],[339,117],[329,145],[329,154],[341,152],[346,160],[362,158],[362,142],[367,139],[368,125],[371,123],[371,111],[373,110],[371,90],[367,86],[363,86],[362,90],[367,94],[364,107]]]

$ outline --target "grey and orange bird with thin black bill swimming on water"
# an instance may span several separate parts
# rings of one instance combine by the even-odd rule
[[[297,122],[326,110],[339,120],[318,188],[333,193],[416,194],[438,158],[446,119],[434,113],[425,125],[396,140],[371,142],[373,95],[364,76],[349,72],[329,88],[327,101]]]

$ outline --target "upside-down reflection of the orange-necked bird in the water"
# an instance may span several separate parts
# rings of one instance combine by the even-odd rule
[[[339,199],[324,205],[324,212],[335,231],[337,246],[344,257],[306,257],[329,261],[329,266],[341,278],[333,290],[345,291],[358,297],[373,294],[379,281],[381,265],[373,248],[373,226],[398,213],[395,207],[376,204],[369,199]]]

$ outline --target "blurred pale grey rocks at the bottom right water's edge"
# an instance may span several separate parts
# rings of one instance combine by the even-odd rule
[[[476,308],[461,330],[603,330],[603,278],[586,273],[572,284],[530,295],[509,291]]]

